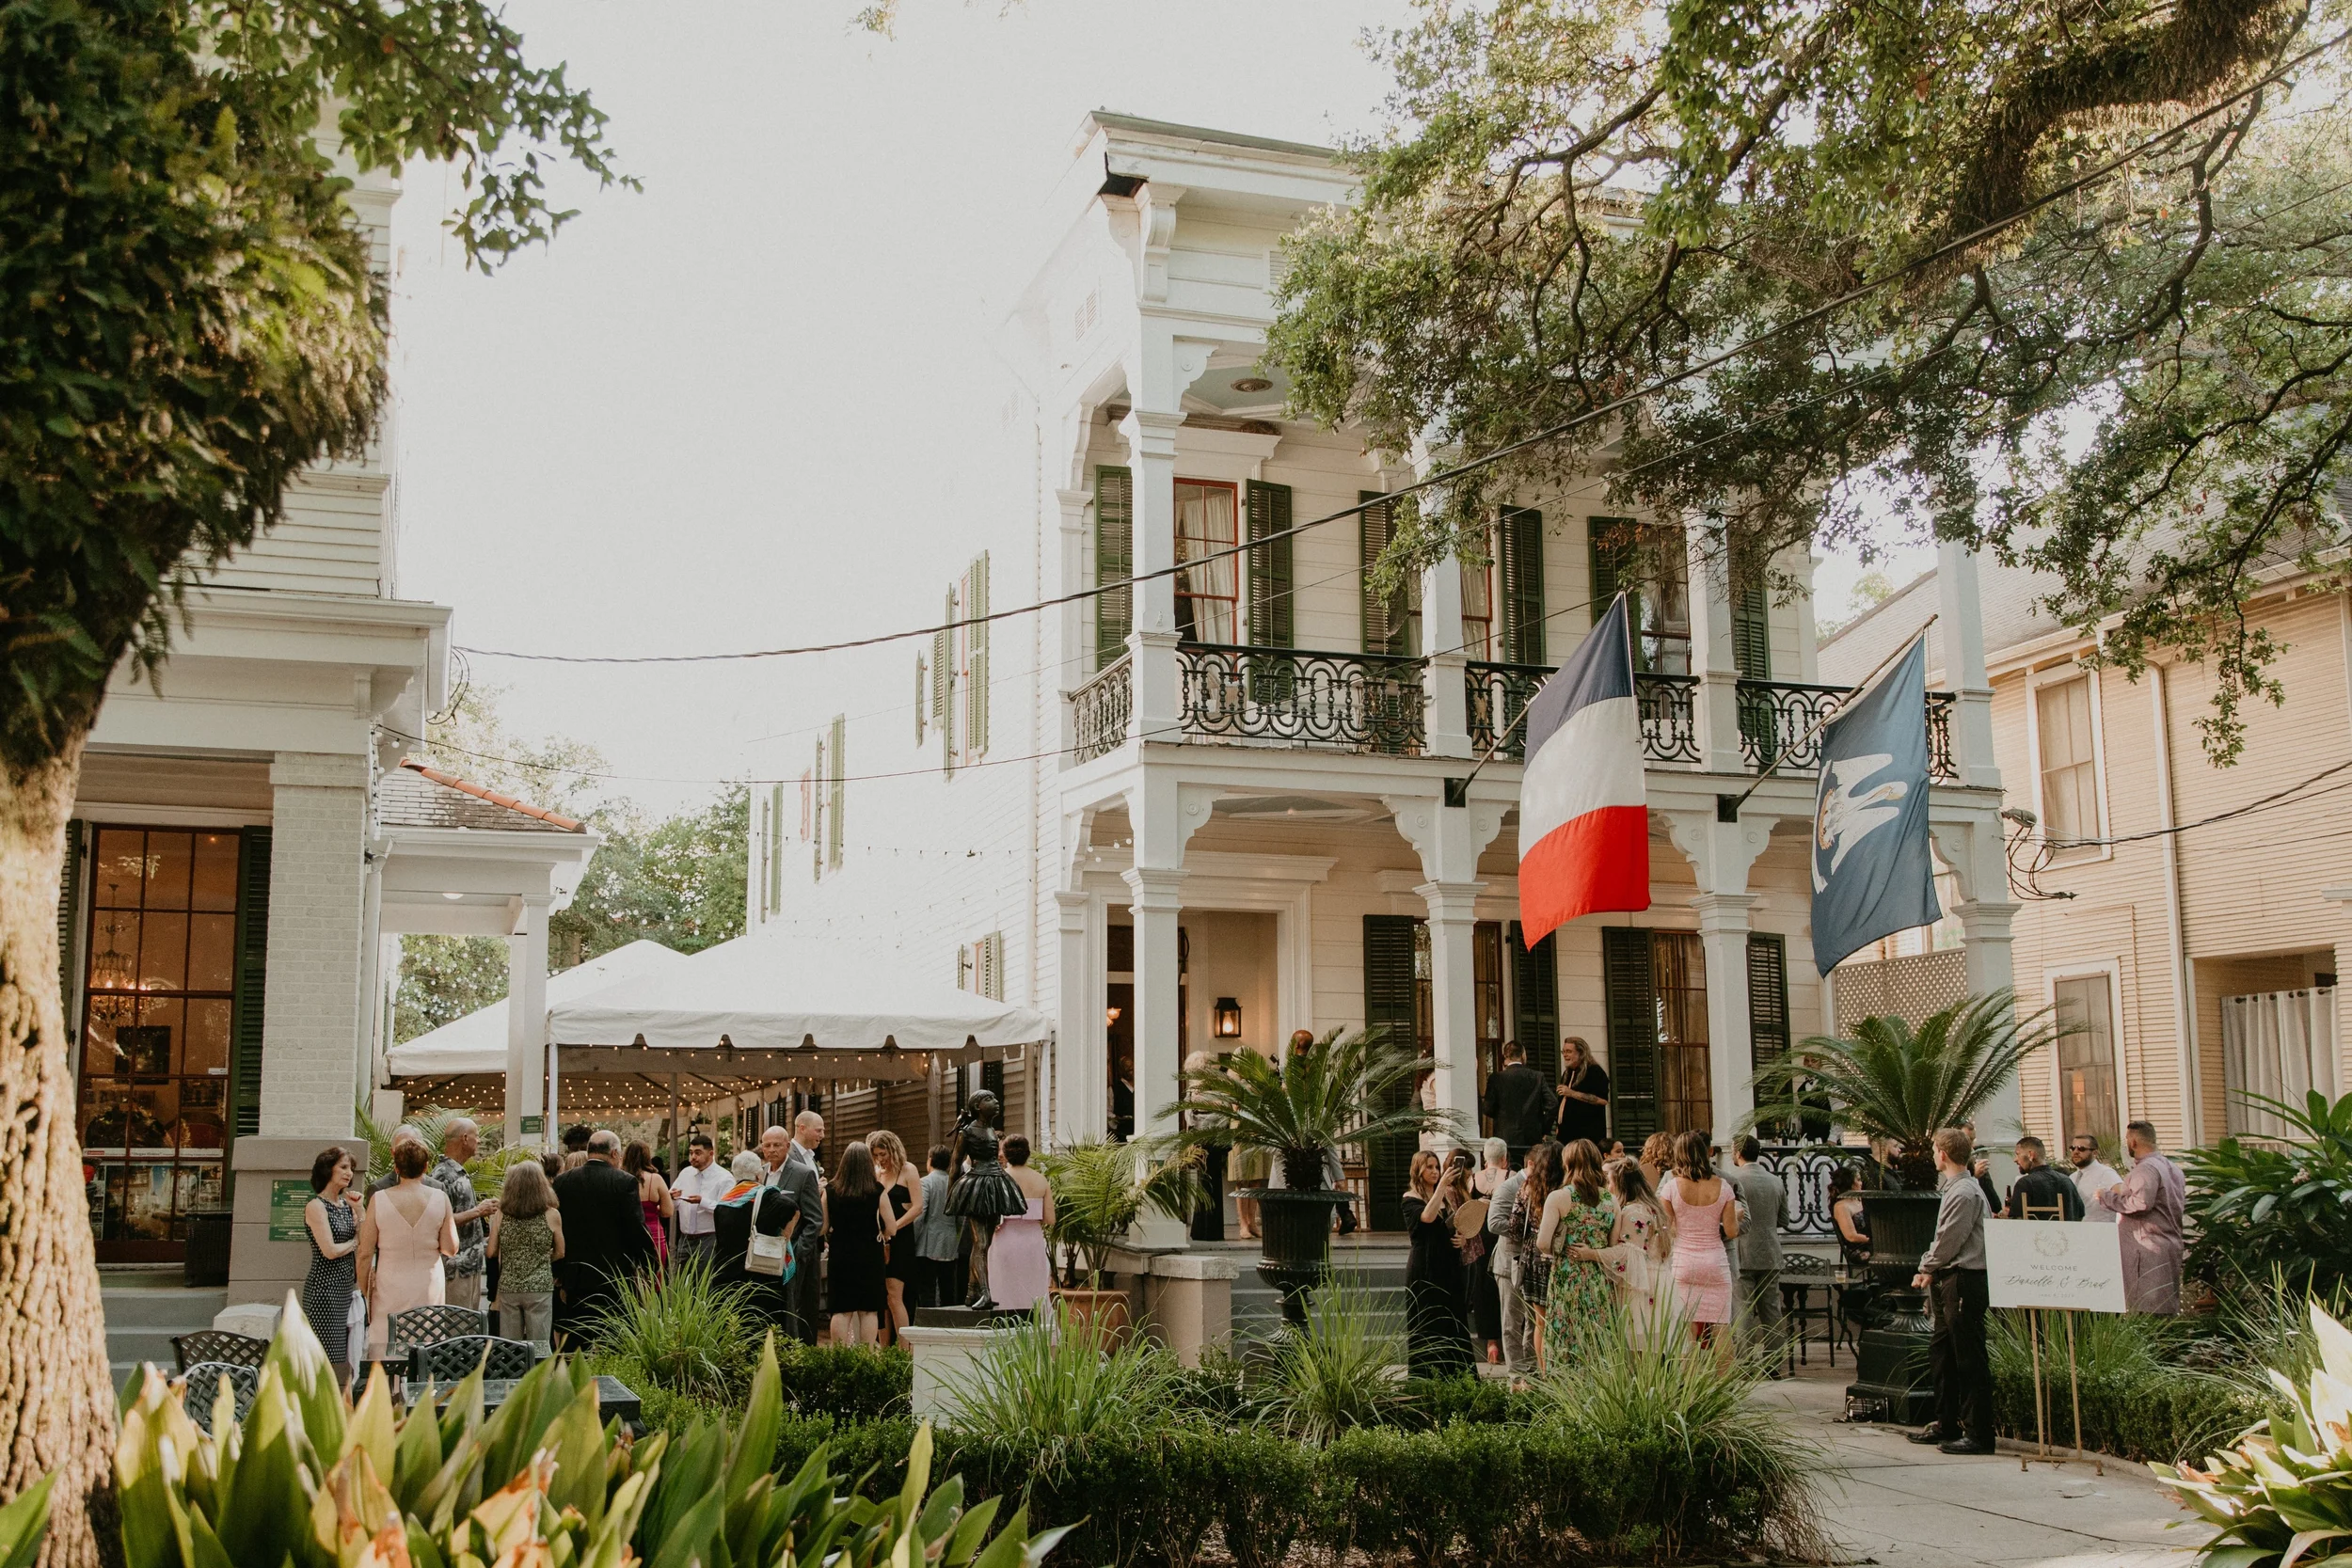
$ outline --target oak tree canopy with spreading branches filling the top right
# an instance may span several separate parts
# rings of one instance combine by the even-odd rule
[[[2241,701],[2281,696],[2249,595],[2347,538],[2347,21],[1423,0],[1381,45],[1364,200],[1291,242],[1270,357],[1301,411],[1392,451],[1583,421],[1421,508],[1390,571],[1592,470],[1719,515],[1752,571],[1891,515],[2046,571],[2126,670],[2211,658],[2230,759]]]

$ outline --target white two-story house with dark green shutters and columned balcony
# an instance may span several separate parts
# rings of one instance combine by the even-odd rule
[[[1437,1103],[1472,1121],[1505,1039],[1550,1070],[1581,1034],[1618,1135],[1729,1128],[1755,1060],[1823,1020],[1797,741],[1835,689],[1809,602],[1724,581],[1698,527],[1618,515],[1599,473],[1519,496],[1477,559],[1376,592],[1385,496],[1423,470],[1284,418],[1261,364],[1284,235],[1350,197],[1324,148],[1082,122],[1004,331],[1028,388],[1004,473],[967,491],[969,567],[943,595],[967,625],[915,654],[913,722],[835,719],[797,795],[764,790],[750,917],[927,973],[955,961],[1054,1016],[1051,1051],[1004,1070],[1014,1124],[1051,1140],[1169,1126],[1195,1053],[1362,1025],[1416,1039]],[[1635,581],[1637,529],[1675,529],[1677,564]],[[1621,588],[1653,907],[1529,945],[1517,719]],[[1021,602],[1051,609],[969,625]],[[1966,571],[1947,618],[1976,625]],[[1959,675],[1926,715],[1933,820],[1969,976],[2002,985],[1990,698]],[[835,1124],[936,1114],[920,1091],[851,1095]],[[1406,1154],[1371,1157],[1376,1220]]]

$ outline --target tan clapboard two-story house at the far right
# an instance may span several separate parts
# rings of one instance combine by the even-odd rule
[[[2046,578],[1983,567],[1992,745],[2020,867],[2020,1001],[2072,1025],[2023,1074],[2025,1126],[2091,1133],[2114,1157],[2126,1121],[2171,1145],[2277,1133],[2244,1093],[2303,1103],[2352,1084],[2336,976],[2352,964],[2352,597],[2293,564],[2263,576],[2249,625],[2279,646],[2286,703],[2246,703],[2244,752],[2213,766],[2199,719],[2213,677],[2169,656],[2140,679],[2037,604]],[[1820,649],[1849,677],[1915,632],[1940,599],[1924,574]],[[1940,625],[1929,668],[1945,665]],[[2030,813],[2023,816],[2023,813]],[[1863,997],[1912,1011],[1950,999],[1931,950],[1837,971],[1839,1011]],[[1940,961],[1950,971],[1950,961]]]

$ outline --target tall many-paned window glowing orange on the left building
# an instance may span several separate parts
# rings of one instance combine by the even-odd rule
[[[221,1206],[238,851],[235,830],[96,830],[80,1133],[101,1258],[167,1255]]]

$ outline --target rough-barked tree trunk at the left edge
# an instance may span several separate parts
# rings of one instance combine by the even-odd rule
[[[118,1563],[115,1389],[73,1131],[56,884],[82,736],[0,762],[0,1495],[56,1472],[47,1568]]]

